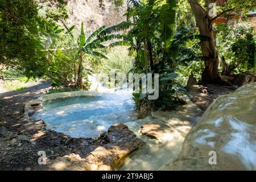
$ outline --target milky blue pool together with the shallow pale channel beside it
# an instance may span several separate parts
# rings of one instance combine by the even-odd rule
[[[127,158],[121,170],[156,170],[170,163],[181,150],[185,134],[191,129],[190,123],[187,122],[188,117],[183,117],[187,108],[181,107],[182,112],[179,114],[172,111],[170,115],[174,116],[174,119],[171,121],[168,121],[168,117],[161,117],[162,114],[137,120],[131,90],[114,91],[100,84],[94,84],[92,90],[96,88],[100,91],[45,95],[40,98],[43,101],[43,109],[32,117],[45,121],[47,129],[75,138],[98,137],[114,123],[125,123],[138,138],[146,142],[146,146]],[[187,112],[196,113],[196,110],[187,110]],[[199,119],[193,116],[189,119],[191,118]],[[172,125],[172,121],[177,123]],[[187,125],[184,125],[186,122]],[[161,137],[156,140],[142,135],[141,126],[147,123],[157,123],[164,131],[163,134],[160,133]]]

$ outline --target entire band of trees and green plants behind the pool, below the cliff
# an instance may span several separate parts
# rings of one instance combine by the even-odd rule
[[[113,2],[115,6],[125,3]],[[225,83],[219,57],[224,75],[255,73],[255,30],[251,25],[213,23],[233,10],[246,15],[255,9],[255,3],[232,0],[210,16],[212,2],[216,1],[128,0],[127,22],[102,26],[86,37],[84,23],[79,36],[74,34],[74,26],[65,24],[67,1],[3,0],[1,75],[6,77],[6,71],[12,69],[28,78],[50,78],[53,86],[88,90],[88,76],[109,74],[109,69],[159,73],[158,100],[147,100],[150,93],[134,94],[134,100],[138,107],[172,107],[182,102],[179,95],[186,92],[191,73],[198,81]],[[104,10],[104,1],[99,6]]]

